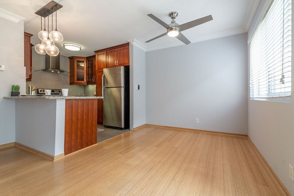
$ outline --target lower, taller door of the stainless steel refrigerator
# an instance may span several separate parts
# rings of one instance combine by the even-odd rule
[[[102,90],[104,90],[103,125],[123,128],[123,87]]]

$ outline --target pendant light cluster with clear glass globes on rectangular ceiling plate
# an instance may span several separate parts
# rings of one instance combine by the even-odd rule
[[[50,1],[41,9],[35,12],[35,14],[41,16],[41,31],[38,33],[38,37],[41,40],[41,44],[35,46],[35,50],[38,54],[48,54],[49,56],[57,56],[59,49],[54,43],[61,43],[63,41],[62,34],[57,31],[57,10],[63,6]],[[53,8],[55,10],[53,11]],[[55,30],[53,31],[53,13],[55,12]],[[51,32],[49,33],[49,16],[51,15]],[[48,19],[48,31],[46,30],[46,17]],[[42,30],[42,18],[44,18],[44,30]]]

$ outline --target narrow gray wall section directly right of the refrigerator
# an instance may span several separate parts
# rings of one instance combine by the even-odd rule
[[[140,85],[140,89],[138,89]],[[130,129],[146,124],[146,52],[130,43]]]

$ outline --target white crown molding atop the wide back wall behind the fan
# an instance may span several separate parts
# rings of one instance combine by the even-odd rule
[[[220,31],[217,33],[211,33],[207,35],[202,35],[198,36],[194,39],[190,39],[191,44],[196,43],[196,42],[202,42],[202,41],[207,41],[207,40],[213,40],[217,38],[222,38],[222,37],[227,37],[231,35],[237,35],[241,33],[246,33],[247,30],[244,27],[239,27],[239,28],[234,28],[234,29],[229,29],[226,31]],[[159,50],[159,49],[164,49],[164,48],[169,48],[169,47],[174,47],[174,46],[179,46],[179,45],[185,45],[184,43],[173,43],[173,44],[166,44],[166,45],[161,45],[161,46],[155,46],[155,47],[148,47],[146,51],[152,51],[152,50]]]

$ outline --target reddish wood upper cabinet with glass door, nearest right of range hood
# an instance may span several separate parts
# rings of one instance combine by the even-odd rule
[[[69,57],[70,85],[87,85],[87,61],[85,57]]]

